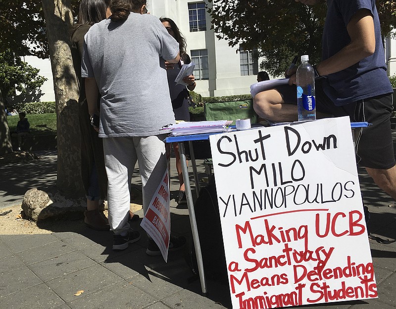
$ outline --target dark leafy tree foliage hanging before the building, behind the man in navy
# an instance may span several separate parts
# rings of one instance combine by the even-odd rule
[[[209,0],[212,29],[230,46],[244,43],[265,57],[261,67],[281,75],[296,55],[321,58],[326,3],[303,5],[294,0]],[[383,35],[396,27],[396,2],[377,0]]]

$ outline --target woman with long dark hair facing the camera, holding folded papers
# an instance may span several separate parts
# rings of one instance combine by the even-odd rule
[[[179,43],[179,49],[180,49],[180,61],[178,63],[165,62],[173,113],[175,114],[176,120],[190,121],[190,113],[189,113],[190,94],[188,90],[193,91],[195,89],[197,85],[197,83],[195,82],[195,77],[194,75],[190,75],[183,78],[183,81],[187,84],[187,88],[186,86],[182,84],[176,84],[175,82],[175,78],[179,74],[183,64],[191,63],[190,56],[186,53],[186,49],[187,49],[186,39],[183,37],[183,35],[179,30],[179,27],[172,19],[163,17],[160,18],[159,20],[162,22],[168,33]],[[179,145],[178,143],[172,143],[172,146],[175,153],[176,170],[180,183],[179,193],[178,196],[176,197],[176,202],[178,204],[186,204],[187,199],[186,199],[186,191],[184,187],[182,165],[180,162]],[[170,152],[170,149],[168,152]]]

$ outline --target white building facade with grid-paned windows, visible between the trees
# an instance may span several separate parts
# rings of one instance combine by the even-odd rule
[[[210,29],[211,18],[205,6],[210,7],[211,3],[207,0],[148,0],[150,14],[171,18],[186,38],[187,53],[196,63],[196,92],[202,96],[248,94],[249,86],[256,82],[262,59],[257,59],[256,51],[244,51],[242,46],[229,47],[227,41],[217,39]],[[385,41],[385,60],[388,74],[396,74],[395,38]],[[49,60],[26,57],[25,61],[48,78],[40,101],[54,101]]]

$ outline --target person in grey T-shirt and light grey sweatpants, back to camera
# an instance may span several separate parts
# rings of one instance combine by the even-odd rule
[[[113,249],[123,250],[140,239],[128,223],[136,161],[145,213],[167,169],[160,128],[174,124],[175,118],[164,60],[177,63],[180,57],[179,44],[158,18],[144,14],[146,0],[115,1],[110,10],[112,15],[93,25],[85,36],[81,76],[86,77],[92,124],[104,137]],[[95,104],[98,88],[100,114]],[[160,254],[154,245],[149,243],[148,254]]]

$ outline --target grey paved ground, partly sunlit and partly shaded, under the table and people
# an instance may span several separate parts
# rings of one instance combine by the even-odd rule
[[[23,193],[31,187],[54,185],[56,153],[41,155],[40,163],[0,167],[0,205],[20,203]],[[48,167],[46,172],[44,167]],[[199,176],[204,177],[200,160],[198,168]],[[392,199],[373,185],[363,169],[359,174],[364,202],[371,212],[372,232],[379,242],[395,239],[396,208],[388,207]],[[137,173],[133,183],[139,186]],[[172,164],[171,198],[176,197],[177,189]],[[172,200],[171,212],[172,233],[190,238],[188,210],[178,208]],[[142,211],[138,214],[143,215]],[[135,222],[133,227],[139,229],[139,224]],[[43,235],[0,235],[0,308],[231,308],[228,285],[216,280],[208,280],[209,293],[201,296],[199,280],[186,262],[188,246],[170,253],[165,263],[161,256],[145,253],[145,233],[139,242],[121,252],[113,252],[111,242],[111,233],[85,228],[82,222],[78,231],[59,228]],[[378,299],[300,308],[396,308],[396,243],[379,242],[370,240]]]

